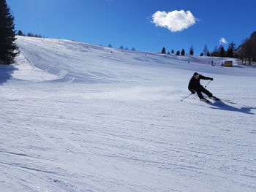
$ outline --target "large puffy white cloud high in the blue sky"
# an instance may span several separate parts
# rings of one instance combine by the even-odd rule
[[[173,12],[160,12],[157,11],[153,14],[152,22],[156,26],[168,28],[172,32],[183,31],[186,28],[194,25],[197,19],[190,11],[184,10]]]

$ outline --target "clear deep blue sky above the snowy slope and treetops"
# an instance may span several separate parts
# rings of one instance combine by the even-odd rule
[[[232,41],[240,45],[256,31],[255,0],[7,0],[7,4],[17,31],[151,52],[165,47],[184,48],[187,53],[192,45],[199,55],[205,45],[210,51],[219,47],[221,38],[225,47]]]

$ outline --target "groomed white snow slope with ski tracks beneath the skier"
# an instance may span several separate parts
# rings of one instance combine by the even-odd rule
[[[256,191],[254,67],[62,39],[17,44],[15,64],[0,66],[0,191]],[[233,103],[181,101],[194,72]]]

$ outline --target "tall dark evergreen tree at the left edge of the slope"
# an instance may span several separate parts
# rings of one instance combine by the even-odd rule
[[[6,0],[0,0],[0,64],[12,64],[18,55],[13,21]]]

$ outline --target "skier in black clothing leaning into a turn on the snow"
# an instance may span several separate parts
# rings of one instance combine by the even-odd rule
[[[189,91],[191,91],[192,94],[197,93],[200,101],[210,102],[203,97],[202,93],[205,93],[210,99],[219,100],[216,96],[213,96],[210,91],[204,88],[203,85],[200,84],[200,80],[214,80],[214,79],[211,77],[205,77],[195,72],[193,74],[193,77],[191,77],[189,81],[189,87],[188,87]]]

